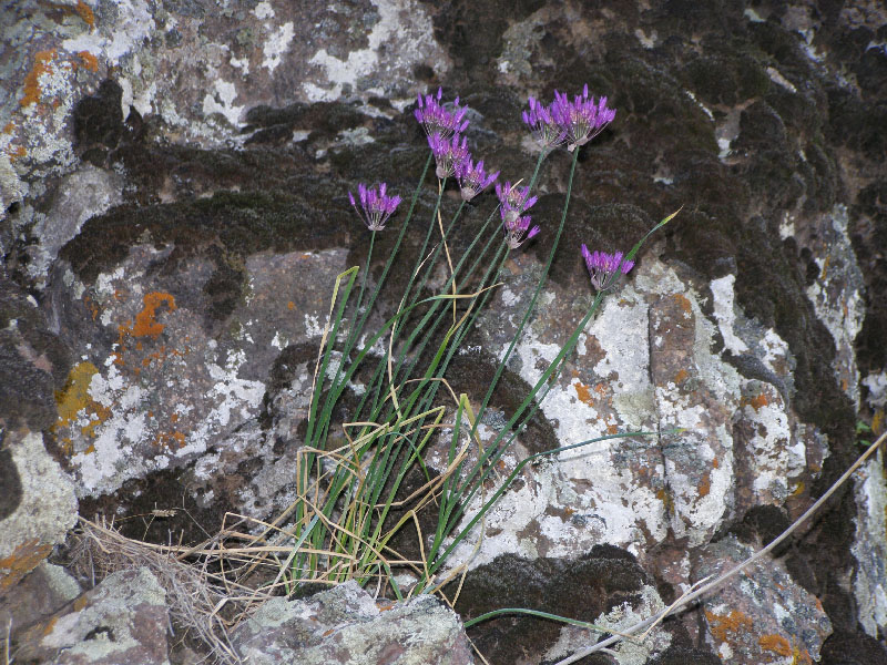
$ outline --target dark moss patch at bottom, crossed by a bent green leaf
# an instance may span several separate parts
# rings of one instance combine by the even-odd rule
[[[638,603],[644,584],[651,581],[635,559],[612,545],[595,545],[574,561],[503,554],[468,573],[456,610],[470,618],[501,607],[529,607],[593,622],[618,605]],[[555,622],[513,615],[477,624],[468,635],[490,663],[510,665],[538,661],[560,630]]]

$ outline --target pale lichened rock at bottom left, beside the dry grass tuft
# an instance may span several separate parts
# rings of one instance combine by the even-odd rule
[[[17,657],[53,665],[169,665],[165,597],[145,567],[112,573],[31,631]]]

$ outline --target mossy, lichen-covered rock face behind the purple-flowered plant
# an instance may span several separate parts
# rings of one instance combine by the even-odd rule
[[[588,83],[616,109],[581,149],[561,250],[483,436],[591,301],[579,245],[625,250],[681,208],[503,473],[597,436],[665,433],[528,467],[485,538],[455,552],[470,569],[456,613],[355,584],[277,597],[232,633],[230,657],[555,663],[593,637],[526,616],[466,633],[459,616],[517,606],[625,627],[769,542],[884,431],[879,2],[23,0],[0,21],[9,662],[198,659],[167,634],[175,606],[153,560],[102,579],[71,563],[70,530],[101,515],[133,540],[193,545],[228,511],[268,520],[292,502],[332,285],[367,257],[347,192],[386,181],[409,196],[428,152],[416,95],[438,86],[470,108],[473,154],[512,182],[537,157],[529,95]],[[473,403],[548,256],[569,171],[563,150],[544,162],[542,232],[453,360]],[[417,219],[436,193],[429,177]],[[456,254],[493,205],[469,206]],[[376,277],[394,238],[378,234]],[[887,663],[885,507],[879,453],[776,556],[643,644],[582,662]]]

